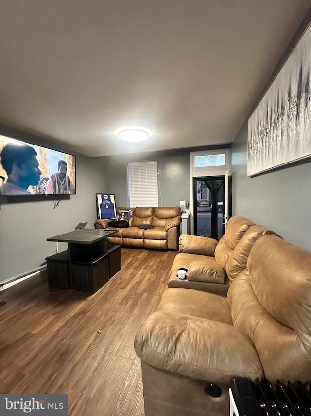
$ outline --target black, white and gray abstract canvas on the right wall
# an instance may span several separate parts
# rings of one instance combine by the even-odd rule
[[[311,25],[248,120],[247,175],[311,156]]]

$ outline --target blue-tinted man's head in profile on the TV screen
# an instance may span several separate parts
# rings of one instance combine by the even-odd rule
[[[7,181],[1,186],[2,195],[30,194],[28,186],[37,186],[41,170],[37,152],[28,145],[8,143],[1,152],[1,163],[7,173]]]

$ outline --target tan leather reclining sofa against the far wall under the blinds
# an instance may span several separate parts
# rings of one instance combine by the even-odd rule
[[[96,228],[107,228],[109,220],[97,219]],[[180,235],[180,207],[132,208],[128,228],[117,228],[109,244],[148,249],[177,250]],[[139,226],[153,226],[143,229]]]

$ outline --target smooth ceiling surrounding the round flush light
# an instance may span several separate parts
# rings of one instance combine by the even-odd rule
[[[0,122],[87,156],[232,142],[310,6],[1,0]]]

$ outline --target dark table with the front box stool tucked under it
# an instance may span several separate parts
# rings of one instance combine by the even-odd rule
[[[83,228],[47,238],[68,244],[71,289],[94,293],[109,280],[107,236],[116,232]]]

